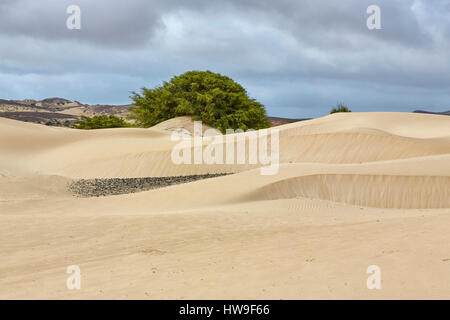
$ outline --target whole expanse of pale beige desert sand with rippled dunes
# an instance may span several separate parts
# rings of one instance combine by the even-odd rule
[[[280,168],[175,165],[173,119],[75,130],[0,119],[2,299],[449,299],[450,117],[279,126]],[[226,176],[80,198],[74,179]],[[69,290],[66,268],[81,269]],[[369,290],[377,265],[382,288]]]

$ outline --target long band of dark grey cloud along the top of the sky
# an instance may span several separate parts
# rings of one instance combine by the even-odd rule
[[[380,41],[423,45],[429,39],[411,11],[412,0],[378,0],[382,8],[382,32],[372,33]],[[230,12],[243,15],[255,24],[274,25],[299,40],[322,48],[351,47],[349,35],[368,36],[365,9],[373,1],[348,0],[230,0],[230,1],[107,1],[107,0],[17,0],[3,2],[0,32],[47,40],[73,39],[101,46],[142,46],[157,28],[161,16],[179,10],[208,15]],[[82,10],[82,30],[65,27],[66,8],[76,4]],[[448,6],[440,2],[447,10]],[[429,6],[425,6],[431,10]],[[443,14],[445,11],[443,12]]]

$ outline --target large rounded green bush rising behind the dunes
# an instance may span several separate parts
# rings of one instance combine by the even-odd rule
[[[268,128],[264,106],[231,78],[211,71],[189,71],[155,89],[133,92],[130,119],[141,127],[178,116],[192,116],[218,130]]]

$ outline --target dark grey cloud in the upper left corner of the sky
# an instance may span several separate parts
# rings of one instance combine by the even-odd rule
[[[66,9],[72,4],[81,8],[81,30],[66,27]],[[159,7],[155,1],[144,0],[17,0],[0,7],[0,33],[93,46],[138,46],[159,27]]]

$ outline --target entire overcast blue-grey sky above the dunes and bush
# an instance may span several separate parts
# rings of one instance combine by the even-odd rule
[[[0,99],[127,104],[211,70],[272,116],[450,109],[450,0],[1,0],[0,17]]]

